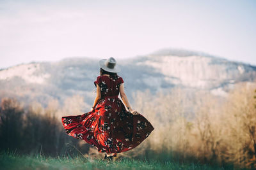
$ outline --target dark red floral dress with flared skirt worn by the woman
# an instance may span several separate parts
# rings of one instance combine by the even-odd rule
[[[99,152],[116,153],[131,150],[146,139],[154,127],[142,115],[132,115],[118,98],[122,77],[98,76],[101,99],[96,108],[83,115],[62,117],[69,136],[82,139]]]

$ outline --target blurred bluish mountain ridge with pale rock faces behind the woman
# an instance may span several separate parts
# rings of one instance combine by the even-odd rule
[[[79,94],[92,105],[93,81],[99,75],[99,60],[73,57],[59,62],[31,62],[0,71],[0,97],[13,96],[44,106],[51,99],[61,104]],[[255,81],[256,67],[207,53],[166,48],[130,59],[116,59],[124,78],[129,99],[136,90],[149,89],[153,94],[173,87],[204,89],[225,96],[235,83]]]

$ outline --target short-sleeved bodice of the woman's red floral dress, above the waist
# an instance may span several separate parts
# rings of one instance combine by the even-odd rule
[[[124,80],[120,76],[116,76],[115,78],[111,78],[108,75],[97,76],[97,80],[94,81],[94,85],[99,85],[101,97],[106,96],[118,96],[119,87],[124,83]]]

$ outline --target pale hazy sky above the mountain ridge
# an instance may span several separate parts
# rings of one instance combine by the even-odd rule
[[[256,1],[0,0],[0,68],[168,47],[256,65]]]

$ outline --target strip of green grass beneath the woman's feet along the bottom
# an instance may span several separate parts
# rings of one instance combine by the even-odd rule
[[[156,160],[120,159],[113,163],[81,155],[45,157],[40,154],[18,155],[15,152],[0,153],[0,169],[225,169],[201,164],[179,164]],[[230,169],[230,168],[229,168]]]

